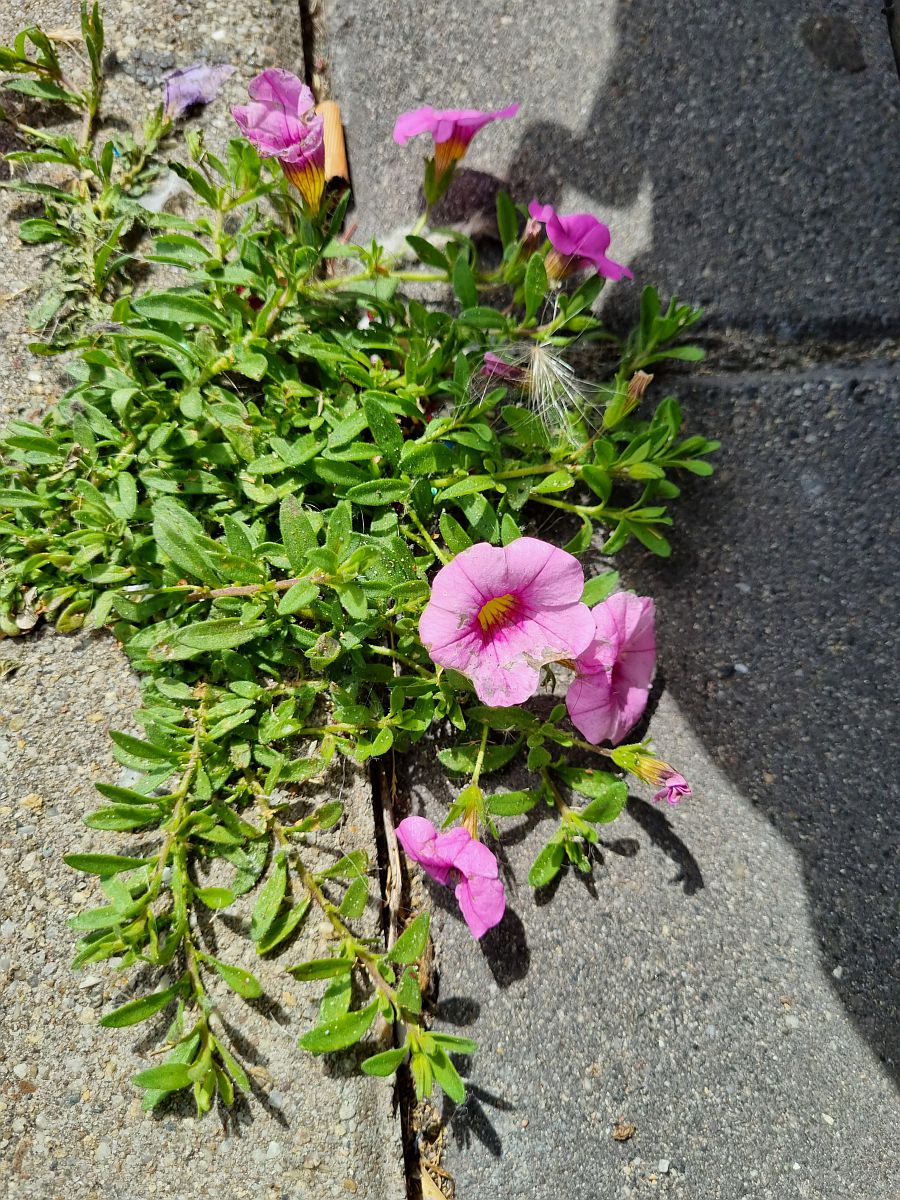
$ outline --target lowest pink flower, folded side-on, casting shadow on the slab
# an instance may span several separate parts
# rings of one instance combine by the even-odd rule
[[[458,826],[439,833],[425,817],[406,817],[397,826],[397,841],[438,883],[457,881],[456,900],[473,937],[482,937],[502,920],[506,896],[497,859],[468,829]]]

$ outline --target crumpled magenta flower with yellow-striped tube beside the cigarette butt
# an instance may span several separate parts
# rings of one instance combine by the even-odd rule
[[[250,86],[251,103],[232,109],[241,133],[263,158],[277,158],[302,196],[318,212],[325,188],[325,137],[316,100],[306,84],[289,71],[270,67]]]

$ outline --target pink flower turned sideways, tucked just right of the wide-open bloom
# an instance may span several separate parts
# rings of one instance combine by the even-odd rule
[[[592,611],[595,637],[576,659],[565,696],[572,725],[588,742],[620,742],[647,706],[656,662],[653,600],[617,592]]]

